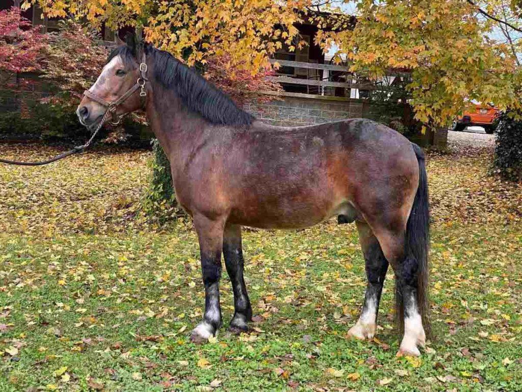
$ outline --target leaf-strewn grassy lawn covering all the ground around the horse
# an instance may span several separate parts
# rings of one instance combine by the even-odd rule
[[[0,145],[34,159],[58,150]],[[428,156],[435,337],[396,358],[393,276],[377,338],[350,340],[365,287],[353,225],[245,230],[252,331],[188,334],[203,310],[189,220],[139,214],[146,151],[104,148],[0,166],[0,391],[522,390],[522,192],[487,176],[488,149]]]

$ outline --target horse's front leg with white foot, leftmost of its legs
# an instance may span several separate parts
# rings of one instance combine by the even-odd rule
[[[224,218],[210,220],[202,215],[194,216],[194,226],[199,239],[201,272],[205,285],[205,314],[203,320],[192,330],[191,340],[193,342],[201,342],[215,336],[222,324],[219,279],[221,278],[224,221]]]

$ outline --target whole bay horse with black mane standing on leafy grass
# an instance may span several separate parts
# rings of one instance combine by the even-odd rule
[[[428,180],[420,147],[369,119],[298,127],[260,122],[170,53],[131,37],[112,50],[77,115],[92,129],[140,109],[198,236],[205,312],[192,341],[205,342],[222,326],[221,253],[234,294],[230,330],[248,330],[242,226],[299,229],[338,216],[357,225],[367,276],[348,336],[373,339],[391,264],[404,331],[397,355],[420,355],[430,330]]]

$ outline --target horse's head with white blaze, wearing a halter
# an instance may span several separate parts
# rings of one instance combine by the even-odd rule
[[[76,110],[78,119],[92,129],[105,114],[117,120],[143,107],[147,80],[144,45],[128,36],[127,42],[120,41],[111,52],[96,83],[85,91]]]

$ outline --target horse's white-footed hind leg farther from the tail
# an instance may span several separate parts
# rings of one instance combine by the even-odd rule
[[[373,235],[370,226],[358,221],[357,229],[359,230],[359,239],[364,254],[368,284],[361,315],[357,324],[348,331],[348,335],[357,339],[372,339],[377,328],[377,312],[379,302],[381,301],[386,271],[388,270],[388,261],[384,257],[381,246]]]

